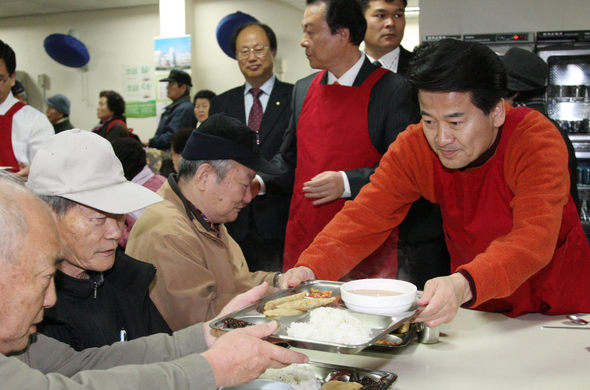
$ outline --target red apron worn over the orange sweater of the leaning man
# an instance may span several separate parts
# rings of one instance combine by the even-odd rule
[[[435,159],[436,199],[441,206],[452,272],[512,230],[510,203],[514,194],[504,179],[504,159],[516,125],[529,112],[521,107],[507,113],[496,153],[474,172],[448,170]],[[589,291],[590,248],[570,195],[551,262],[509,297],[492,299],[476,309],[511,317],[529,312],[589,312]]]

